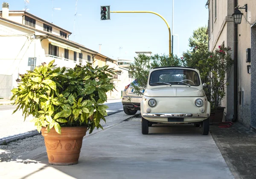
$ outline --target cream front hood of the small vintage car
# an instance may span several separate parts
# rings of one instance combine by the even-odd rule
[[[203,97],[203,89],[193,87],[160,87],[146,89],[144,95],[147,97]]]

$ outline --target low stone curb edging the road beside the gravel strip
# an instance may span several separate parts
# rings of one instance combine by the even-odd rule
[[[116,114],[116,113],[119,113],[119,112],[122,112],[122,111],[116,111],[114,113],[111,113],[108,116],[111,116],[112,114]],[[134,117],[140,117],[140,116],[141,116],[140,114],[135,114],[135,115],[132,115],[132,116],[128,117],[127,119],[125,119],[123,121],[128,121],[129,119],[132,119]],[[27,137],[32,137],[32,136],[39,135],[39,134],[41,134],[41,132],[38,133],[37,130],[33,130],[33,131],[29,131],[29,132],[22,133],[22,134],[17,134],[17,135],[14,135],[14,136],[8,136],[8,137],[0,139],[0,145],[6,145],[9,142],[13,142],[13,141],[19,140],[19,139],[25,139]]]

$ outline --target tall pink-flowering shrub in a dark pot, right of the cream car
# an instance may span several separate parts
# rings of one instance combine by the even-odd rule
[[[207,42],[207,41],[206,41]],[[225,97],[228,84],[229,70],[233,65],[230,56],[231,48],[219,45],[213,52],[208,51],[208,45],[199,45],[192,52],[186,52],[181,57],[186,66],[200,70],[202,83],[207,83],[204,91],[211,102],[211,122],[222,122],[224,108],[221,100]]]

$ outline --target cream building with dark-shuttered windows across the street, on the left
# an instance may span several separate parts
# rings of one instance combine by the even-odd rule
[[[116,60],[69,40],[71,32],[26,11],[0,11],[0,98],[10,98],[20,74],[55,60],[56,67],[74,68],[93,63],[95,67]],[[108,96],[111,97],[111,96]]]

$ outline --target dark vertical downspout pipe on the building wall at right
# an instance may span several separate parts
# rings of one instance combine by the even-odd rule
[[[234,7],[237,7],[237,0],[234,0]],[[237,104],[238,104],[238,69],[237,69],[237,63],[238,63],[238,30],[237,30],[237,24],[234,23],[234,117],[233,121],[237,121]]]

